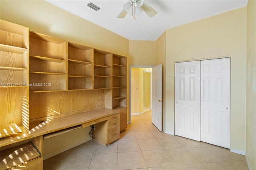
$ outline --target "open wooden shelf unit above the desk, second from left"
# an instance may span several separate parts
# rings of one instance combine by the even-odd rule
[[[30,92],[66,90],[67,45],[43,34],[30,32]]]

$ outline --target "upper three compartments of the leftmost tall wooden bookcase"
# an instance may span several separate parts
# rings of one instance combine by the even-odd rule
[[[0,83],[28,83],[29,28],[0,20],[0,33]]]

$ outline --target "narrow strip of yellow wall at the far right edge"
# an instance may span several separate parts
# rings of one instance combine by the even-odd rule
[[[256,1],[247,4],[246,158],[256,170]]]

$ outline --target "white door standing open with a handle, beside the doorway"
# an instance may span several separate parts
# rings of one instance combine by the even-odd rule
[[[152,123],[162,131],[162,64],[152,68]]]

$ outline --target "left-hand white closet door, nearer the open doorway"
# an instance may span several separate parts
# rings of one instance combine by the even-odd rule
[[[175,135],[200,141],[200,61],[175,63]]]

